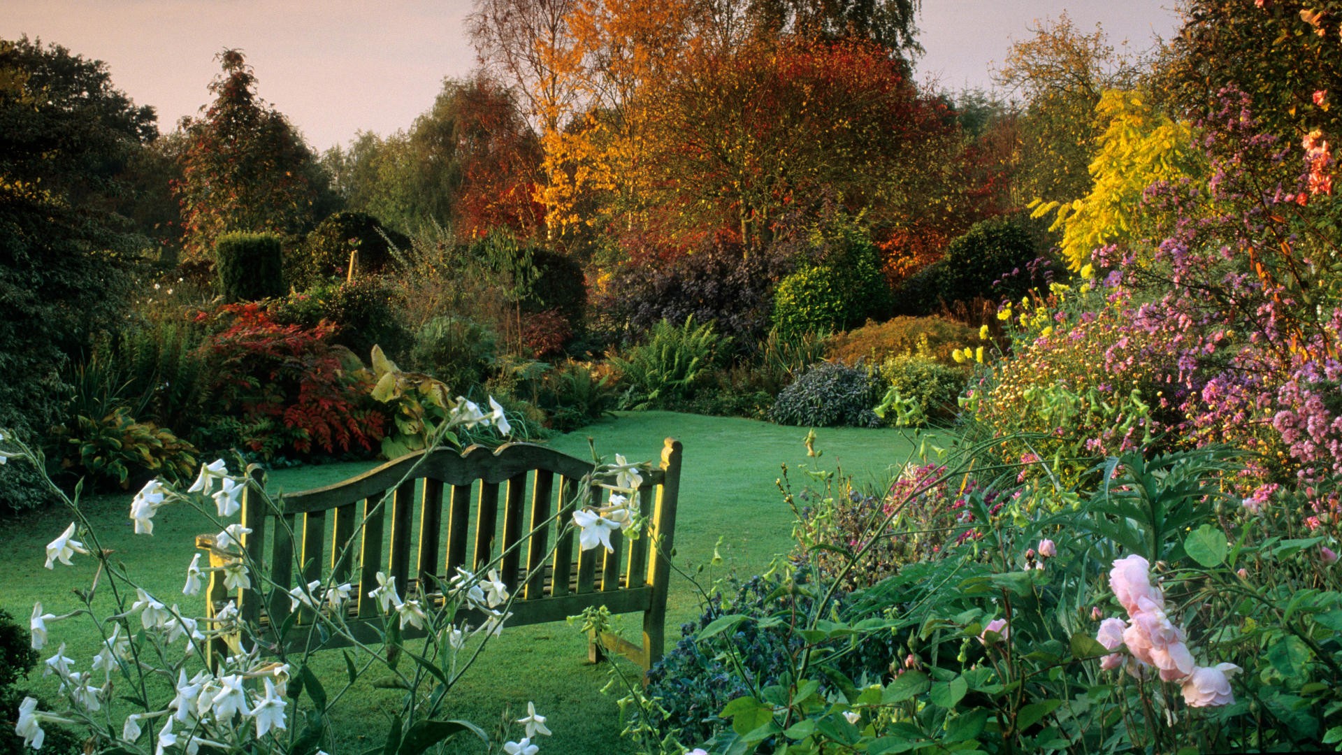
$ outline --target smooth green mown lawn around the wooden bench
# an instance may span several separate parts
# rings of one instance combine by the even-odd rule
[[[780,427],[749,419],[713,418],[675,412],[621,414],[577,433],[558,437],[550,445],[558,450],[588,457],[588,438],[599,454],[624,454],[629,459],[656,458],[662,439],[675,437],[684,443],[680,508],[676,523],[675,562],[687,572],[710,563],[714,545],[722,537],[719,553],[725,562],[706,568],[698,579],[705,584],[734,571],[749,576],[764,570],[774,553],[790,548],[792,512],[782,502],[776,485],[780,465],[790,470],[809,466],[835,469],[840,465],[860,482],[878,484],[890,474],[892,465],[909,461],[915,439],[898,430],[823,429],[816,433],[820,459],[807,457],[803,443],[807,430]],[[270,476],[272,486],[301,490],[336,482],[372,466],[372,463],[333,463],[278,470]],[[0,469],[3,473],[3,469]],[[792,474],[800,486],[805,476]],[[85,509],[98,528],[103,548],[115,551],[146,588],[162,596],[184,598],[184,607],[200,601],[180,594],[185,566],[193,555],[193,536],[209,532],[211,525],[189,509],[164,509],[154,520],[153,537],[133,536],[129,494],[90,498]],[[60,614],[78,607],[70,592],[87,587],[93,562],[82,558],[75,567],[55,571],[43,568],[44,544],[70,523],[64,510],[40,512],[9,520],[0,528],[0,553],[4,553],[5,576],[0,580],[0,609],[19,619],[42,601],[50,613]],[[106,590],[106,588],[103,588]],[[679,623],[698,615],[696,592],[687,579],[671,582],[668,609],[668,645],[679,637]],[[633,630],[639,617],[621,619]],[[631,633],[632,634],[632,633]],[[97,650],[95,638],[86,619],[54,623],[52,645],[67,643],[66,654],[81,668]],[[44,656],[50,656],[44,652]],[[344,660],[337,652],[318,654],[315,664],[323,678],[344,678]],[[632,669],[632,666],[629,666]],[[450,717],[475,721],[486,731],[498,727],[505,711],[511,717],[525,715],[526,703],[549,717],[554,736],[542,746],[545,752],[625,752],[627,742],[619,739],[619,713],[615,699],[600,692],[608,678],[605,665],[586,662],[585,639],[565,623],[517,627],[494,641],[480,662],[454,689]],[[36,677],[32,686],[51,693],[51,678]],[[388,715],[399,707],[399,693],[376,688],[361,680],[334,709],[337,746],[344,751],[362,751],[380,744]],[[521,713],[518,711],[522,711]],[[117,724],[119,731],[119,723]],[[479,747],[463,751],[480,751]]]

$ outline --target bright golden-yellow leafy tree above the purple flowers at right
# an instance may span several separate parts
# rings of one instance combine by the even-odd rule
[[[1150,238],[1162,223],[1142,197],[1157,181],[1197,179],[1205,161],[1193,144],[1193,128],[1161,113],[1139,94],[1110,90],[1095,106],[1107,124],[1090,164],[1091,191],[1072,202],[1029,204],[1033,216],[1056,215],[1049,230],[1063,232],[1068,267],[1080,270],[1102,246]]]

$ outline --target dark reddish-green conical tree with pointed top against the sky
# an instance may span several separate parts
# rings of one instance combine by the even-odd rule
[[[188,146],[176,191],[184,251],[208,259],[225,231],[294,234],[313,222],[325,177],[279,112],[256,97],[256,77],[238,50],[216,58],[223,73],[201,118],[184,118]]]

